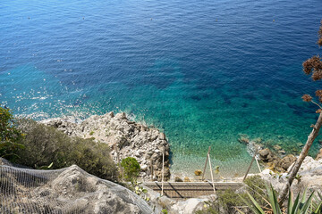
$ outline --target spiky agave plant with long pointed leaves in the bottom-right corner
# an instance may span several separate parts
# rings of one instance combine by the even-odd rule
[[[300,193],[296,196],[294,201],[292,191],[289,191],[289,199],[286,208],[281,208],[277,201],[277,195],[273,186],[267,187],[267,198],[263,199],[267,202],[267,207],[260,207],[258,202],[247,192],[250,200],[242,198],[242,201],[252,210],[255,214],[322,214],[322,195],[318,193],[318,197],[310,193],[309,198],[306,198],[307,190],[304,191],[302,196]],[[313,200],[314,199],[314,200]],[[241,214],[245,214],[242,210],[237,209]],[[265,210],[265,211],[264,211]]]

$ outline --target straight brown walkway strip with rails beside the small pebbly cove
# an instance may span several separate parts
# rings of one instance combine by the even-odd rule
[[[239,189],[242,183],[235,182],[215,182],[216,191],[226,189]],[[162,182],[146,182],[142,185],[161,193]],[[165,182],[164,194],[169,198],[197,198],[201,195],[209,195],[214,193],[214,187],[210,182]]]

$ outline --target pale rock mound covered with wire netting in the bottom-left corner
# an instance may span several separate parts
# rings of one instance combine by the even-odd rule
[[[0,213],[153,213],[121,185],[72,165],[22,169],[0,158]]]

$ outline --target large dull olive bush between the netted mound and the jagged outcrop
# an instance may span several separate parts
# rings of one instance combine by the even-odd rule
[[[70,137],[63,132],[30,119],[21,119],[19,127],[25,133],[21,144],[25,146],[16,161],[38,169],[53,162],[51,169],[61,169],[72,164],[92,175],[109,180],[117,179],[117,170],[110,156],[108,144],[92,139]]]

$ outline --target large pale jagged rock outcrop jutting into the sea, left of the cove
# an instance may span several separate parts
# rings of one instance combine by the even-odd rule
[[[165,151],[165,180],[170,178],[170,148],[165,134],[157,128],[148,128],[127,119],[125,113],[93,115],[81,123],[66,119],[48,119],[42,122],[69,136],[94,137],[96,141],[109,144],[116,163],[126,157],[136,158],[140,163],[142,178],[150,177],[152,162],[153,177],[161,180],[162,152]]]

